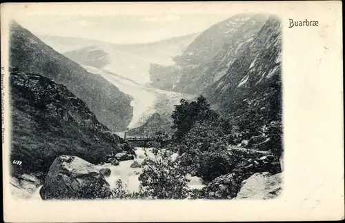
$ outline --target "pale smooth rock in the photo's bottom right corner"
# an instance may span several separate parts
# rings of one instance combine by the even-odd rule
[[[255,173],[242,182],[242,187],[235,199],[267,200],[277,197],[281,192],[282,173],[276,175],[268,172]]]

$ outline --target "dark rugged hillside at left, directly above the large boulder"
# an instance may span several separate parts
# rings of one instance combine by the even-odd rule
[[[48,75],[47,75],[48,76]],[[75,155],[91,163],[132,148],[103,124],[65,86],[48,77],[10,73],[11,163],[17,173],[46,173],[59,155]]]

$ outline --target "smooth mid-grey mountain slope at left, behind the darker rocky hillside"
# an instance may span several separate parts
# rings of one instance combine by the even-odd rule
[[[63,84],[113,131],[124,130],[130,122],[132,107],[128,95],[59,54],[15,21],[10,23],[10,66]]]

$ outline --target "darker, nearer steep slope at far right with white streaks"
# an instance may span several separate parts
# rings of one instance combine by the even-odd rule
[[[226,75],[204,95],[234,122],[264,126],[282,122],[282,30],[270,17]]]

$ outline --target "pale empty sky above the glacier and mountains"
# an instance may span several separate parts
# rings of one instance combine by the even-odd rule
[[[16,20],[34,35],[80,37],[131,44],[202,32],[230,16],[231,14],[28,15]]]

